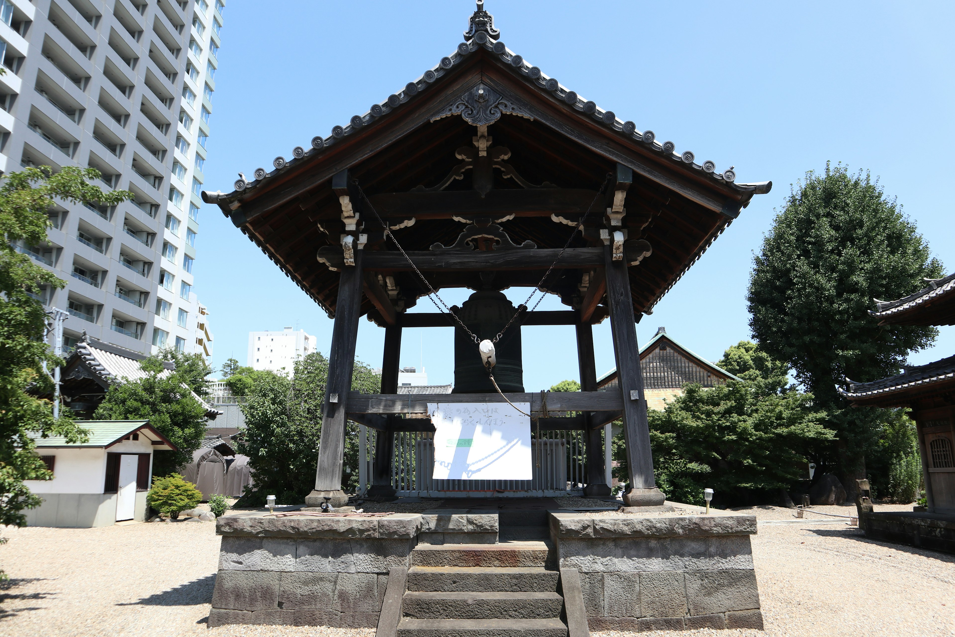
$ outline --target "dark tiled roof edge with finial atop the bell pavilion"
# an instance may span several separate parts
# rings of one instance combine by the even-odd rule
[[[661,156],[672,161],[675,165],[693,169],[694,172],[699,174],[701,179],[718,181],[732,187],[734,190],[742,192],[765,193],[769,192],[770,187],[772,187],[771,182],[735,183],[736,174],[732,166],[724,169],[722,172],[717,172],[714,162],[706,160],[702,163],[696,163],[696,158],[691,151],[684,150],[677,152],[673,142],[658,141],[653,131],[645,130],[638,132],[637,125],[634,122],[621,120],[613,111],[601,108],[597,106],[595,102],[571,91],[563,86],[556,78],[544,74],[541,69],[531,65],[523,56],[508,49],[503,42],[497,39],[499,32],[494,29],[493,26],[488,27],[479,24],[481,19],[488,19],[493,22],[493,20],[490,20],[490,14],[486,11],[476,11],[475,14],[471,16],[471,28],[464,34],[466,41],[458,44],[454,53],[442,57],[434,67],[425,71],[424,74],[421,74],[413,82],[406,84],[404,89],[393,93],[379,103],[372,104],[371,109],[364,115],[351,117],[350,122],[345,126],[339,125],[332,127],[329,137],[323,138],[322,136],[316,136],[311,138],[308,146],[296,146],[292,149],[291,159],[284,157],[273,159],[273,170],[256,168],[253,172],[252,180],[247,179],[244,173],[239,173],[239,179],[233,184],[235,189],[232,192],[224,194],[222,192],[208,192],[203,190],[202,201],[206,203],[233,201],[246,192],[260,187],[265,181],[274,179],[303,159],[310,158],[317,153],[327,152],[330,147],[334,146],[342,138],[347,138],[352,133],[360,130],[363,126],[368,126],[378,119],[389,117],[395,111],[399,111],[402,106],[426,92],[435,80],[450,73],[456,65],[464,61],[465,57],[470,53],[477,52],[479,49],[499,56],[501,61],[510,65],[516,73],[523,76],[525,80],[537,87],[540,91],[546,91],[572,106],[581,118],[596,121],[621,137],[644,142],[648,149],[659,153]],[[477,26],[475,26],[476,23]]]

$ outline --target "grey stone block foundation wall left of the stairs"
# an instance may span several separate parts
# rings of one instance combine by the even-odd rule
[[[421,516],[217,520],[209,626],[375,627],[388,571],[409,566]]]

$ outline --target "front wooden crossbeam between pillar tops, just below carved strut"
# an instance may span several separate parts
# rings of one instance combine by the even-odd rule
[[[413,271],[408,259],[397,250],[363,250],[365,269],[371,271]],[[550,267],[561,254],[559,248],[533,250],[411,250],[408,251],[419,270],[447,270],[483,272],[487,270],[543,270]],[[338,245],[319,248],[318,260],[336,270],[341,270],[345,259]],[[604,265],[604,252],[600,247],[576,247],[564,250],[557,269],[588,269]]]

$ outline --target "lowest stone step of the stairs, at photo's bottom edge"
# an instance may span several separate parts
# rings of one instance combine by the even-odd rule
[[[559,619],[412,619],[402,617],[399,637],[567,637]]]

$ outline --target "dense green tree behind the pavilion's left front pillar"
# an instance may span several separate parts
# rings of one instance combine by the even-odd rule
[[[322,435],[322,402],[329,378],[329,360],[319,352],[295,362],[289,378],[257,372],[242,406],[245,429],[239,451],[249,457],[255,491],[244,494],[244,505],[261,505],[275,495],[283,503],[302,502],[315,486],[318,446]],[[234,376],[233,376],[234,377]],[[355,362],[351,389],[378,393],[380,376]],[[349,422],[345,435],[342,488],[358,486],[358,426]]]

